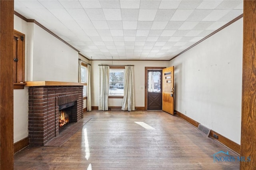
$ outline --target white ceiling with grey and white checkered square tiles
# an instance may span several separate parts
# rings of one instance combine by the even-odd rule
[[[169,60],[243,13],[242,0],[14,0],[89,59]]]

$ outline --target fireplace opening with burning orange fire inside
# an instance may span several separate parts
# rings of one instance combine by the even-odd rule
[[[59,132],[62,132],[69,124],[73,123],[71,110],[75,104],[76,101],[59,106]]]

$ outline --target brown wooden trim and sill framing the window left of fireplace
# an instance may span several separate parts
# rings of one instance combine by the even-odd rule
[[[17,72],[21,72],[20,70],[22,69],[22,83],[18,83],[18,82],[15,82],[13,83],[13,89],[24,89],[24,86],[26,85],[25,83],[25,34],[22,34],[21,32],[18,32],[16,30],[13,31],[14,32],[14,35],[18,35],[18,36],[23,36],[23,47],[22,47],[22,68],[19,68],[17,70]],[[14,48],[14,46],[13,46]]]

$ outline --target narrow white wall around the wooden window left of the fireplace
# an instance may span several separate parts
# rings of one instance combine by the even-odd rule
[[[25,34],[25,81],[27,80],[27,22],[14,15],[14,30]],[[28,136],[28,87],[14,89],[14,142]]]

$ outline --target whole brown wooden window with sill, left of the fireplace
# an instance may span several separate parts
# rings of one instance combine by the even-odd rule
[[[13,83],[14,89],[24,89],[25,83],[25,35],[14,30],[13,39]]]

